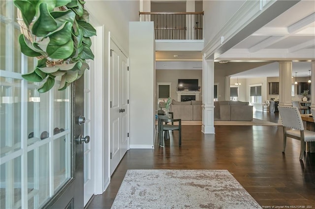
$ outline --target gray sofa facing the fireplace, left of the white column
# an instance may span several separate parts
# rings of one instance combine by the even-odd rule
[[[173,112],[174,118],[180,118],[184,121],[202,120],[202,101],[177,102],[172,100],[170,112]]]

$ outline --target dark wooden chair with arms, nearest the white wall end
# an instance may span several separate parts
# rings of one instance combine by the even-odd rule
[[[174,122],[178,122],[178,125],[174,125]],[[169,125],[168,123],[171,123]],[[181,119],[173,119],[169,118],[169,116],[158,115],[158,135],[159,142],[158,144],[161,147],[164,147],[164,139],[167,137],[169,131],[179,131],[179,146],[182,146],[182,120]],[[164,132],[164,137],[163,137]]]

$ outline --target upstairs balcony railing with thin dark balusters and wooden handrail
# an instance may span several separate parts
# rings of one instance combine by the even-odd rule
[[[139,15],[142,22],[154,22],[156,39],[203,39],[203,12],[139,12]]]

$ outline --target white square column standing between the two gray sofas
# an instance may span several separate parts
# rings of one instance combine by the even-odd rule
[[[204,133],[215,133],[214,127],[214,60],[206,60],[203,55],[202,67],[202,127]]]

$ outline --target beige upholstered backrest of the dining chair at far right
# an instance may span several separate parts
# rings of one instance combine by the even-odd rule
[[[303,121],[298,107],[278,106],[278,109],[284,127],[296,130],[304,130]]]

